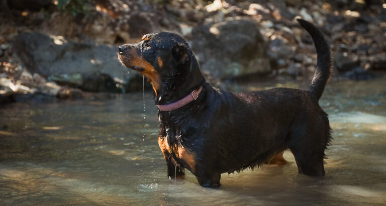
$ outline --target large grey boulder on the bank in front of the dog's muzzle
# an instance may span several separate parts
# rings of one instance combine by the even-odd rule
[[[115,46],[76,43],[61,36],[40,33],[21,33],[15,38],[13,48],[31,72],[88,91],[117,92],[137,76],[118,61]]]

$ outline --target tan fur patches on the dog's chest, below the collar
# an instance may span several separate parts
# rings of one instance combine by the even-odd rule
[[[182,159],[186,162],[187,165],[190,167],[190,171],[195,171],[195,155],[189,151],[187,151],[182,146],[173,146],[170,147],[169,144],[167,144],[166,137],[158,137],[158,145],[162,150],[162,154],[165,157],[165,152],[168,152],[169,154],[175,154],[175,156],[179,159]],[[166,157],[165,157],[166,159]]]

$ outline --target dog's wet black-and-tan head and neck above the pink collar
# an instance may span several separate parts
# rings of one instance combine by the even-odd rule
[[[146,34],[136,44],[119,47],[119,60],[126,67],[146,75],[156,101],[186,95],[202,80],[199,65],[186,41],[177,34]],[[158,102],[159,103],[159,102]]]

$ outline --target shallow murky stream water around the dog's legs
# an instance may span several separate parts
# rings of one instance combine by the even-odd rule
[[[166,177],[150,93],[145,114],[142,93],[8,105],[0,109],[0,205],[385,204],[385,82],[329,82],[320,101],[334,130],[326,177],[299,175],[285,152],[290,164],[223,174],[220,189],[199,186],[188,172],[183,181]]]

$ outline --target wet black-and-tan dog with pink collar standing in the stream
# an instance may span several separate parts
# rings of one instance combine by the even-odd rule
[[[299,173],[324,176],[323,158],[331,141],[321,97],[331,69],[331,52],[322,32],[298,19],[311,35],[317,69],[308,90],[273,88],[233,94],[211,86],[196,57],[177,34],[146,34],[118,48],[119,61],[146,75],[159,108],[158,144],[169,178],[186,168],[205,187],[220,186],[221,173],[261,166],[295,156]]]

